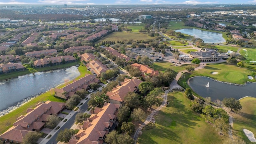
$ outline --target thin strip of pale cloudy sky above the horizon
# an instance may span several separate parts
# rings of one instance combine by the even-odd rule
[[[0,4],[256,4],[256,0],[0,0]]]

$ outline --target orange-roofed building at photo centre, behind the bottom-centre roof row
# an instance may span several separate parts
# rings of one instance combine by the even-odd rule
[[[106,93],[106,96],[108,96],[107,102],[112,104],[122,104],[125,95],[128,94],[128,92],[137,92],[139,84],[142,82],[142,80],[134,78],[124,79],[124,82],[122,82],[121,85],[116,86],[111,92]]]

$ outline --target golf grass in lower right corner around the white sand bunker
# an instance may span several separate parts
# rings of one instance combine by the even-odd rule
[[[246,144],[255,144],[250,142],[244,134],[243,129],[248,129],[256,136],[256,98],[243,98],[240,100],[242,110],[233,114],[233,134],[246,141]]]

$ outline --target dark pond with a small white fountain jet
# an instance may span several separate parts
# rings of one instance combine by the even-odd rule
[[[209,82],[209,87],[206,85]],[[190,78],[189,86],[202,97],[211,97],[212,101],[226,98],[236,98],[236,100],[244,96],[256,97],[256,83],[248,83],[246,86],[236,86],[217,82],[203,76]]]

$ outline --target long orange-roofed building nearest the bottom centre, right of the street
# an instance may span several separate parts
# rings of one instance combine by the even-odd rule
[[[83,130],[79,130],[76,139],[68,144],[102,144],[108,132],[116,127],[116,118],[120,105],[105,103],[102,108],[95,108],[94,114],[85,121]]]

